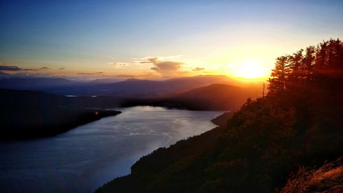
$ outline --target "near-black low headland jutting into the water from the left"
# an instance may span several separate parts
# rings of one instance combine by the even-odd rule
[[[80,101],[36,91],[0,89],[0,139],[56,135],[102,117],[120,113],[86,109],[84,106],[93,104],[93,100],[84,100],[88,101],[85,104],[82,104],[82,99]]]

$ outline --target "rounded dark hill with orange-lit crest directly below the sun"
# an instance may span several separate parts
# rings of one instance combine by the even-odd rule
[[[128,99],[123,106],[152,105],[189,110],[233,111],[244,104],[247,98],[257,98],[261,94],[261,90],[257,89],[211,84],[160,98]]]

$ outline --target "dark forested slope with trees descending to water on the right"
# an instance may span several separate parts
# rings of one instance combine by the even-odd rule
[[[219,128],[142,157],[97,192],[280,190],[300,166],[343,155],[342,69],[341,41],[278,58],[267,97],[222,116],[230,118]]]

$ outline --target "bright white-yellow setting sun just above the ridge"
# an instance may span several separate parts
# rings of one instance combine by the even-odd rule
[[[263,67],[252,60],[241,64],[235,73],[236,76],[241,78],[263,78],[265,76]]]

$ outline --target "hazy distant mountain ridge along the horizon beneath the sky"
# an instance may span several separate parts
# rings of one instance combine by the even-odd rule
[[[112,95],[134,98],[151,98],[171,93],[185,92],[210,84],[244,83],[226,76],[193,76],[167,80],[139,80],[130,78],[120,82],[114,79],[98,79],[91,82],[75,82],[64,78],[3,78],[0,88],[44,91],[59,95]],[[110,83],[108,83],[110,82]]]

